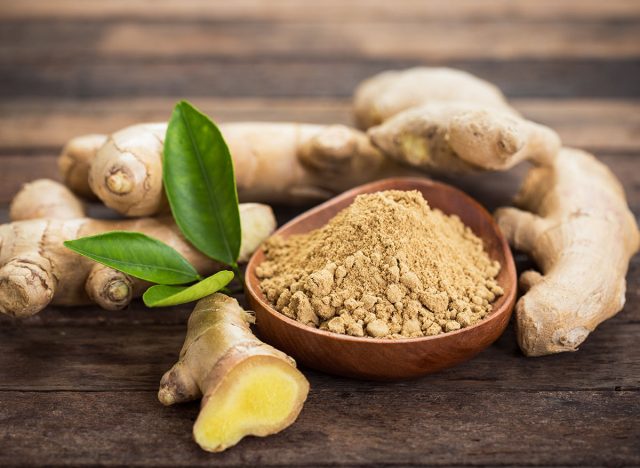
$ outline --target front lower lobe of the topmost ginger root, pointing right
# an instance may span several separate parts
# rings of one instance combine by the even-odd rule
[[[551,129],[476,104],[409,109],[369,129],[385,154],[436,173],[504,171],[523,160],[550,162],[560,149]]]

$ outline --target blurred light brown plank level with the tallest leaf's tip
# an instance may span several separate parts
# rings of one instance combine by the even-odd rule
[[[295,121],[350,124],[350,99],[197,97],[216,121]],[[0,158],[34,150],[59,151],[85,133],[107,133],[166,120],[175,98],[7,99],[0,102]],[[532,120],[554,128],[567,146],[592,151],[640,151],[640,100],[513,99]]]

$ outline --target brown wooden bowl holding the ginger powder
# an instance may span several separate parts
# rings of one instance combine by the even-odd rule
[[[516,299],[516,269],[507,241],[491,215],[475,200],[449,185],[420,178],[394,178],[356,187],[282,226],[275,235],[287,237],[319,228],[357,195],[382,190],[419,190],[433,208],[456,214],[479,236],[489,256],[502,269],[497,277],[504,295],[479,323],[436,336],[407,339],[357,338],[319,330],[275,310],[260,291],[255,274],[264,260],[256,251],[246,273],[246,293],[256,313],[261,337],[305,366],[346,377],[398,380],[418,377],[466,361],[493,343],[506,328]]]

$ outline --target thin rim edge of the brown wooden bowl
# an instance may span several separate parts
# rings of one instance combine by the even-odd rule
[[[335,197],[332,197],[331,199],[313,208],[310,208],[307,211],[304,211],[303,213],[299,214],[295,218],[291,219],[287,223],[280,226],[273,234],[271,234],[271,236],[269,236],[269,238],[280,234],[281,231],[284,231],[285,229],[289,228],[291,225],[297,224],[302,218],[306,219],[314,216],[318,212],[324,211],[328,206],[334,205],[345,199],[348,199],[357,195],[365,194],[365,193],[375,193],[383,190],[394,190],[393,186],[398,184],[399,182],[405,183],[407,185],[415,186],[415,188],[413,189],[408,188],[403,190],[419,190],[418,187],[429,185],[431,187],[436,188],[437,190],[448,190],[448,191],[455,192],[457,193],[458,196],[460,196],[465,201],[466,204],[471,206],[474,210],[482,213],[484,217],[489,220],[492,230],[496,234],[496,237],[499,240],[503,256],[506,260],[506,265],[503,265],[502,267],[506,268],[507,278],[508,278],[508,281],[511,282],[512,287],[509,288],[509,291],[507,294],[505,294],[504,296],[501,296],[501,298],[499,299],[502,301],[501,305],[497,309],[494,308],[494,310],[492,310],[487,317],[483,318],[478,323],[471,325],[470,327],[461,328],[459,330],[452,331],[452,332],[441,333],[439,335],[420,336],[415,338],[373,338],[368,336],[359,337],[359,336],[343,335],[340,333],[333,333],[330,331],[321,330],[319,328],[310,327],[308,325],[304,325],[298,322],[297,320],[293,320],[287,317],[281,312],[278,312],[269,303],[267,298],[264,296],[264,294],[260,290],[259,279],[255,274],[255,269],[259,265],[259,263],[257,263],[258,257],[260,257],[260,255],[264,256],[262,245],[258,249],[256,249],[256,251],[251,255],[251,258],[247,263],[247,269],[246,269],[245,281],[244,281],[245,294],[251,296],[250,299],[253,299],[258,304],[260,304],[260,306],[269,315],[276,318],[277,320],[283,321],[287,325],[297,328],[299,331],[303,333],[311,333],[318,336],[319,338],[341,340],[341,341],[352,342],[357,344],[403,345],[403,344],[409,344],[409,343],[422,343],[425,341],[442,340],[446,338],[460,336],[465,333],[471,333],[474,330],[478,330],[479,328],[486,327],[488,324],[497,320],[505,313],[510,314],[515,304],[516,293],[518,288],[517,288],[517,274],[516,274],[515,261],[513,259],[513,254],[511,252],[511,248],[509,247],[509,243],[507,242],[506,238],[502,234],[502,231],[498,227],[498,224],[496,223],[493,216],[491,216],[491,214],[487,211],[487,209],[484,206],[482,206],[477,200],[472,198],[470,195],[467,195],[462,190],[452,185],[446,184],[444,182],[435,181],[426,177],[425,178],[390,177],[387,179],[381,179],[375,182],[359,185],[350,190],[347,190],[346,192],[342,192],[341,194],[336,195]],[[456,213],[451,213],[451,214],[456,214]],[[255,282],[255,288],[253,284],[254,282]]]

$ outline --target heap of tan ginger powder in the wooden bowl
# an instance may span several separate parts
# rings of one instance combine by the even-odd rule
[[[457,216],[418,191],[358,196],[320,229],[267,241],[256,269],[275,308],[351,336],[408,338],[482,320],[500,264]]]

